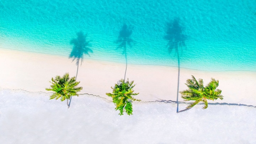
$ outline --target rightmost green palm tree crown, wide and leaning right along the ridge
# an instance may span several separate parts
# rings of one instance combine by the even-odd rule
[[[187,107],[187,109],[192,108],[194,105],[199,103],[200,101],[204,102],[203,109],[208,107],[208,100],[223,100],[223,96],[220,95],[222,90],[216,89],[219,86],[219,81],[212,78],[209,84],[204,87],[203,80],[199,79],[198,81],[192,75],[192,79],[187,79],[187,87],[188,90],[181,91],[181,97],[185,99],[185,101],[193,100],[194,102]]]

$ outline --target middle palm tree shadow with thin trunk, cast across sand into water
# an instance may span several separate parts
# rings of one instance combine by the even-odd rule
[[[118,39],[116,41],[116,43],[118,44],[118,49],[123,49],[123,54],[125,54],[125,58],[126,58],[126,70],[124,73],[124,80],[126,79],[126,71],[127,71],[127,46],[129,46],[130,48],[132,47],[132,43],[134,42],[130,36],[132,34],[132,29],[133,27],[129,27],[127,26],[126,23],[123,24],[121,30],[119,31],[119,36]]]

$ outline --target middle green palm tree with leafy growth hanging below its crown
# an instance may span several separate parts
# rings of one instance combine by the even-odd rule
[[[134,81],[124,82],[123,79],[117,82],[114,87],[111,87],[113,89],[112,93],[106,93],[106,95],[111,96],[113,99],[113,102],[116,105],[116,110],[119,110],[119,115],[123,115],[123,111],[126,110],[126,113],[128,115],[132,114],[132,101],[140,101],[135,98],[133,98],[133,95],[138,95],[139,93],[133,93],[133,85]]]

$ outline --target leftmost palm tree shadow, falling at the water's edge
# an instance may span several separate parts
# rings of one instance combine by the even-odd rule
[[[80,31],[76,33],[76,35],[77,35],[77,38],[74,38],[70,41],[70,44],[73,44],[74,46],[69,55],[69,58],[73,58],[73,61],[76,60],[76,65],[77,65],[76,78],[77,78],[80,60],[82,65],[84,54],[89,55],[89,52],[93,53],[93,51],[89,48],[90,41],[86,41],[87,34],[84,35],[84,33]]]

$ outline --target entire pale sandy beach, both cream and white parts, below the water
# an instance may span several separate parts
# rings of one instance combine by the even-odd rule
[[[202,78],[205,85],[213,77],[219,80],[224,99],[214,101],[221,103],[217,105],[208,101],[206,110],[196,105],[176,113],[175,102],[161,100],[176,101],[177,68],[128,65],[127,78],[137,84],[135,92],[140,94],[135,98],[142,102],[133,103],[131,116],[119,116],[105,93],[123,78],[125,64],[84,59],[77,77],[84,89],[67,108],[65,101],[49,100],[51,93],[45,88],[56,75],[75,76],[72,59],[0,48],[0,60],[1,143],[256,142],[255,72],[181,69],[180,91],[187,89],[184,83],[191,75]],[[180,103],[179,110],[186,107]]]

